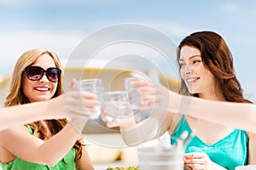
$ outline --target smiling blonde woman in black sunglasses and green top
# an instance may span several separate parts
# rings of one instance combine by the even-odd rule
[[[41,48],[28,50],[15,65],[4,106],[58,97],[62,94],[61,78],[61,64],[55,54]],[[94,106],[90,102],[88,105],[89,109]],[[49,119],[0,132],[0,166],[3,170],[93,169],[78,132],[87,121]]]

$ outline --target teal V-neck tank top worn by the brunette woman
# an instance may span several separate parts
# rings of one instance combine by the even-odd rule
[[[184,131],[187,131],[189,135],[192,133],[188,122],[183,116],[171,135],[171,144],[175,144],[175,139],[178,139]],[[186,145],[185,153],[207,153],[207,156],[213,162],[229,170],[235,170],[235,167],[247,164],[247,145],[247,132],[235,129],[215,144],[206,144],[195,135]]]

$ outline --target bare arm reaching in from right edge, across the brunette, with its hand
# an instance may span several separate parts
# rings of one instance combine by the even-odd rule
[[[172,114],[194,116],[209,122],[256,133],[256,105],[200,99],[170,91],[161,84],[135,82],[134,88],[148,101],[148,108],[159,108]]]

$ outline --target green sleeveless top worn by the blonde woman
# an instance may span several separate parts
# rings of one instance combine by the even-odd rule
[[[32,128],[28,127],[30,133],[32,133]],[[3,170],[74,170],[75,169],[75,150],[70,150],[67,155],[54,167],[49,167],[44,164],[32,163],[29,161],[24,161],[19,157],[16,157],[14,161],[9,163],[2,163],[0,162],[0,167]],[[0,168],[1,169],[1,168]]]

